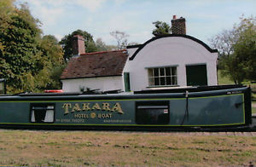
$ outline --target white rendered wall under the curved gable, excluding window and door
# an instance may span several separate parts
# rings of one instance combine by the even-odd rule
[[[162,37],[145,45],[133,60],[127,60],[124,72],[130,72],[131,90],[142,90],[148,87],[148,67],[177,66],[177,84],[183,87],[187,86],[186,65],[206,64],[208,85],[217,85],[217,57],[218,53],[189,38]]]

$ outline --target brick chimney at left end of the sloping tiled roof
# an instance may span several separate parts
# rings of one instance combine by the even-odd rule
[[[81,35],[73,36],[73,55],[85,54],[84,37]]]

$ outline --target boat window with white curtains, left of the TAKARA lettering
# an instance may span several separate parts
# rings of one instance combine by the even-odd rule
[[[32,123],[53,123],[55,115],[55,105],[53,104],[32,104]]]

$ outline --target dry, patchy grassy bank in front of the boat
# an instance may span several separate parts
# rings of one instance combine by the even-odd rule
[[[256,137],[102,131],[0,130],[0,165],[240,166]]]

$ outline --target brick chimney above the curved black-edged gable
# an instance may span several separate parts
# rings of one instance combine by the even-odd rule
[[[172,18],[172,34],[186,35],[186,20],[183,17],[177,19],[176,15]]]

